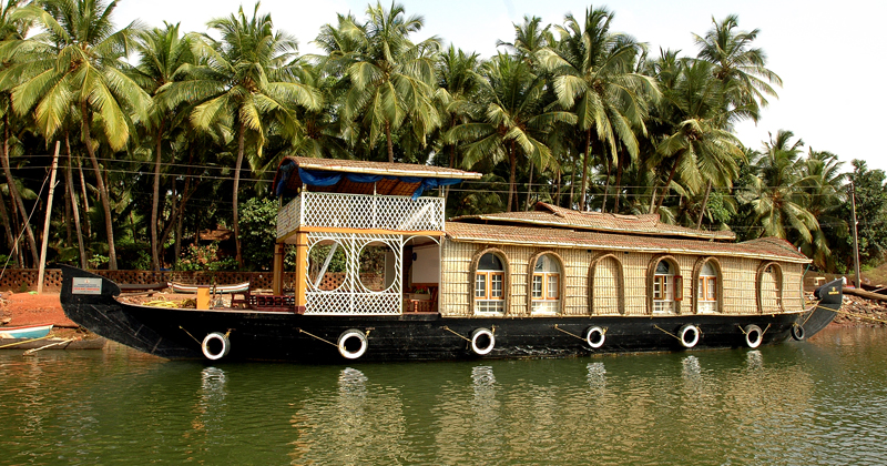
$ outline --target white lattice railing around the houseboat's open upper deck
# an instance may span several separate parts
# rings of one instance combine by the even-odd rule
[[[442,231],[443,199],[303,192],[277,214],[277,237],[297,226]]]

